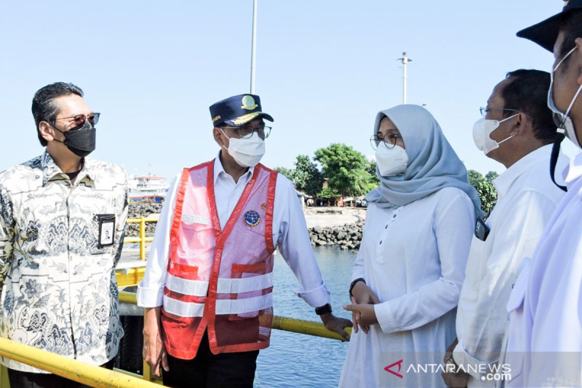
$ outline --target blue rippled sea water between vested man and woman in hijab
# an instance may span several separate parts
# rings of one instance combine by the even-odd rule
[[[339,248],[314,249],[325,284],[331,292],[333,314],[351,319],[342,308],[349,303],[352,266],[356,254]],[[293,293],[296,277],[282,258],[275,255],[273,289],[274,314],[321,322],[314,308]],[[272,330],[271,346],[257,359],[255,387],[337,387],[347,353],[347,342],[307,334]]]

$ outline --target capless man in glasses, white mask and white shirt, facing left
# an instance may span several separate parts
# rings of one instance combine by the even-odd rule
[[[494,184],[498,201],[486,221],[477,220],[466,278],[457,308],[458,343],[448,364],[463,366],[449,386],[493,387],[492,375],[508,325],[505,305],[521,259],[531,256],[563,191],[549,175],[556,140],[552,113],[546,106],[550,75],[515,70],[495,86],[484,116],[473,127],[477,148],[507,170]],[[560,165],[567,161],[560,156]],[[455,369],[456,370],[456,369]],[[460,375],[460,376],[459,376]],[[466,381],[463,381],[466,380]]]

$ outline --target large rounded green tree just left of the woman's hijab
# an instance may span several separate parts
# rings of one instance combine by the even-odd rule
[[[361,152],[335,143],[315,151],[314,159],[321,163],[330,190],[349,196],[367,192],[371,176],[366,170],[368,161]]]

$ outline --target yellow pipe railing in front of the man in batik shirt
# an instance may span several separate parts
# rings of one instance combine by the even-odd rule
[[[159,387],[143,379],[135,378],[99,366],[85,364],[76,359],[46,350],[37,349],[0,337],[0,355],[15,361],[55,373],[91,387],[101,388],[155,388]],[[18,388],[18,387],[12,387]]]

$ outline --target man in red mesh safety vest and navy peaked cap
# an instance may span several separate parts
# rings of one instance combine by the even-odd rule
[[[351,326],[331,314],[293,184],[258,163],[271,131],[263,119],[273,121],[259,97],[226,98],[210,113],[221,151],[174,181],[137,293],[144,359],[173,387],[253,385],[271,334],[275,246],[325,327],[347,340]]]

